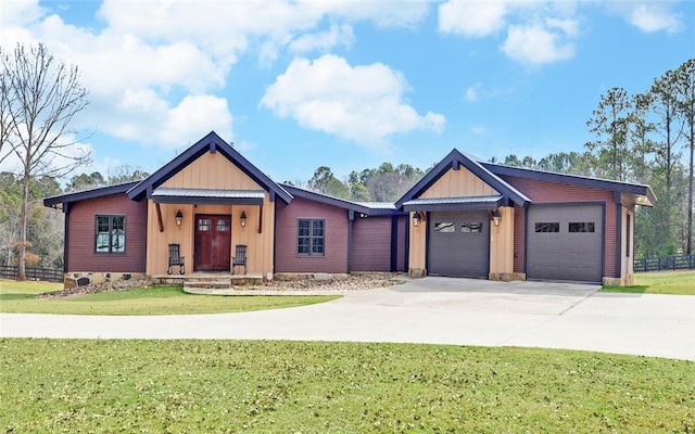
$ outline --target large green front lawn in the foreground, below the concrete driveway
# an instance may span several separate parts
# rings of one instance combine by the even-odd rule
[[[692,433],[695,363],[533,348],[0,340],[0,432]]]

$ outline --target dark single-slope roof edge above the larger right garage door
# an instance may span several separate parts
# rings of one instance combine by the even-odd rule
[[[608,190],[616,193],[630,194],[634,196],[635,203],[640,205],[654,206],[654,204],[656,203],[656,195],[654,194],[652,187],[641,183],[590,178],[580,175],[557,174],[554,171],[503,166],[493,163],[481,163],[481,165],[491,173],[498,176],[513,176],[518,178],[534,179],[539,181],[567,183],[571,186],[589,187],[599,190]]]

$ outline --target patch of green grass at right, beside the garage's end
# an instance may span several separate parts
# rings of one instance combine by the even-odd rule
[[[634,285],[604,286],[604,292],[695,295],[695,271],[635,272]]]

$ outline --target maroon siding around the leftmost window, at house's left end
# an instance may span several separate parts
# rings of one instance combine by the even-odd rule
[[[126,252],[94,253],[97,215],[126,216]],[[125,193],[74,202],[68,208],[68,272],[144,272],[147,255],[147,201],[135,202]]]

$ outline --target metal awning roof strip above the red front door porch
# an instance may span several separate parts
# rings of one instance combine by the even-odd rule
[[[264,199],[263,190],[160,188],[152,192],[154,203],[262,205]]]

